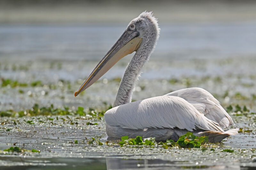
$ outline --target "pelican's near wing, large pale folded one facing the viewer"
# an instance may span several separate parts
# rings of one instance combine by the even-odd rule
[[[105,113],[105,120],[109,126],[128,129],[179,128],[223,132],[218,123],[176,96],[158,96],[114,107]]]

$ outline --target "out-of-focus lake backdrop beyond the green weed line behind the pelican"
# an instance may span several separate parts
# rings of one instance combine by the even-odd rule
[[[1,0],[0,110],[112,105],[124,57],[74,97],[128,23],[153,11],[161,28],[133,100],[202,87],[223,106],[254,107],[256,1]]]

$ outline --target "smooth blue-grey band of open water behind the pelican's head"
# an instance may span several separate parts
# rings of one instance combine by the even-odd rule
[[[153,59],[254,55],[256,23],[161,25]],[[0,26],[1,57],[100,60],[122,34],[121,26]]]

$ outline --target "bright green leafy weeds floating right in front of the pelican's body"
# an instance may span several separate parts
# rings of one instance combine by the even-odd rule
[[[128,136],[124,136],[121,138],[122,141],[119,142],[120,146],[123,147],[125,145],[146,145],[150,147],[154,147],[155,145],[160,145],[164,149],[168,149],[170,147],[178,146],[181,148],[200,148],[202,144],[208,142],[208,137],[197,137],[193,135],[192,132],[187,132],[185,135],[180,136],[177,142],[174,142],[172,139],[166,140],[165,143],[155,141],[155,138],[146,138],[142,140],[141,136],[137,136],[136,138],[129,138]]]

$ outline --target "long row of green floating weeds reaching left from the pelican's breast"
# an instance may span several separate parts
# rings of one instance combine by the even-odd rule
[[[90,116],[97,119],[102,119],[105,112],[112,108],[108,106],[106,110],[97,111],[96,109],[89,109],[89,112],[85,112],[83,107],[78,107],[77,110],[70,109],[69,107],[64,107],[64,109],[54,108],[53,105],[50,107],[39,107],[35,104],[31,109],[16,112],[14,110],[1,111],[0,116],[7,117],[23,117],[23,116],[38,116],[38,115],[80,115],[80,116]]]

